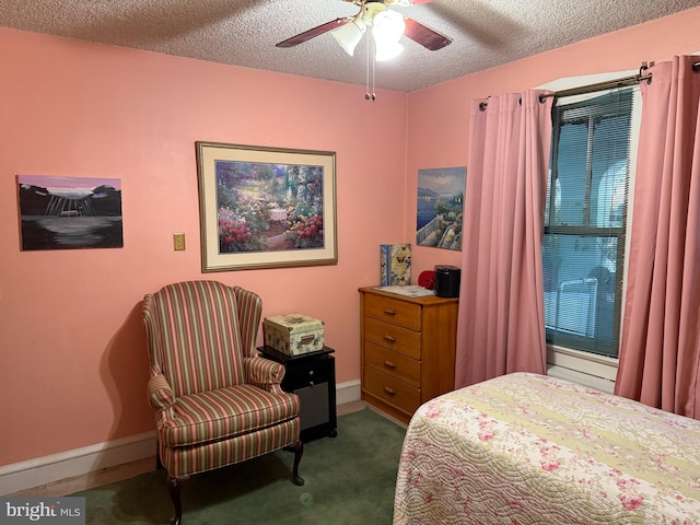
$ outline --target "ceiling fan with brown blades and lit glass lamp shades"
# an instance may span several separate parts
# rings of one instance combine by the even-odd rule
[[[387,60],[399,55],[404,47],[398,43],[401,35],[435,51],[452,43],[452,38],[415,21],[399,12],[387,9],[392,5],[409,7],[429,3],[432,0],[343,0],[360,8],[354,16],[336,19],[277,44],[277,47],[294,47],[316,36],[331,32],[346,52],[352,56],[354,47],[369,27],[376,44],[376,60]]]

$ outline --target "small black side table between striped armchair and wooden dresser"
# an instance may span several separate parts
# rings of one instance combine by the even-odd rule
[[[302,432],[305,443],[319,438],[335,438],[336,418],[336,360],[335,350],[324,347],[317,352],[288,355],[270,347],[259,347],[264,358],[282,363],[285,369],[282,389],[300,398]]]

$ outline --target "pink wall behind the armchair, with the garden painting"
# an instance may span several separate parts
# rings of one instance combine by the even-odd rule
[[[359,378],[358,288],[404,235],[407,95],[9,30],[0,62],[0,465],[154,428],[140,301],[172,281],[324,319]],[[202,275],[196,140],[336,151],[338,265]],[[21,252],[18,174],[120,178],[124,248]]]

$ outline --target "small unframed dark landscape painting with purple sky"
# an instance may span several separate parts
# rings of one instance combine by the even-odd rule
[[[23,250],[121,248],[121,180],[18,175]]]

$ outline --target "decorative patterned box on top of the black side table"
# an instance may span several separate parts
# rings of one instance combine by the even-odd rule
[[[265,345],[287,355],[316,352],[324,348],[324,322],[303,314],[266,317]]]

